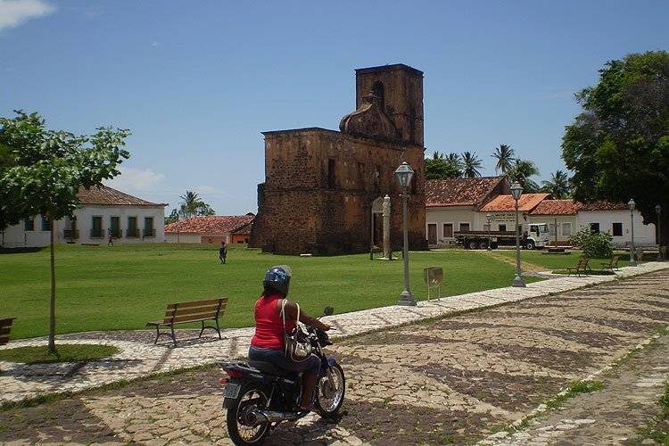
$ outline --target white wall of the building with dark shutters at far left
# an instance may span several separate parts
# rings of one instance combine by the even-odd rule
[[[141,207],[141,206],[85,206],[74,211],[77,218],[77,230],[79,237],[75,243],[97,243],[106,244],[108,229],[111,227],[111,217],[120,218],[120,230],[122,237],[114,238],[114,243],[119,244],[140,244],[140,243],[162,243],[165,241],[165,218],[163,207]],[[93,227],[93,216],[103,218],[103,238],[91,238],[91,228]],[[137,238],[126,237],[128,229],[128,217],[137,218],[137,227],[140,230],[140,236]],[[143,237],[145,217],[153,217],[153,228],[155,237]],[[17,247],[37,247],[49,244],[49,231],[42,230],[42,219],[37,216],[35,221],[35,230],[26,231],[24,223],[8,227],[4,231],[4,240],[0,235],[0,242],[3,242],[5,248]],[[62,219],[54,222],[54,241],[55,243],[65,243],[64,230],[71,228],[70,219]]]

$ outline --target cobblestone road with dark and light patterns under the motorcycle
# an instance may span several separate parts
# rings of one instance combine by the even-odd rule
[[[662,270],[355,336],[331,349],[347,376],[339,424],[312,417],[301,425],[281,425],[271,442],[482,440],[567,384],[614,363],[668,323],[669,270]],[[644,369],[635,382],[655,385],[664,379],[665,358],[648,361],[651,370]],[[5,410],[0,412],[0,442],[226,444],[217,377],[208,368]],[[629,429],[640,423],[616,430],[615,438],[631,437]]]

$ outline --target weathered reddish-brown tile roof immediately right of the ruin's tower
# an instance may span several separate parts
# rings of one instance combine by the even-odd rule
[[[448,178],[425,181],[425,206],[475,206],[506,177]]]

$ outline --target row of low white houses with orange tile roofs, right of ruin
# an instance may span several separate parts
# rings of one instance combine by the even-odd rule
[[[431,247],[448,244],[453,231],[485,230],[487,214],[491,215],[491,230],[513,230],[515,201],[508,189],[500,186],[505,183],[495,183],[493,179],[455,178],[425,182],[425,236]],[[632,215],[634,244],[657,244],[655,225],[644,225],[640,212],[631,214],[625,203],[582,203],[552,200],[549,194],[522,194],[518,204],[520,223],[547,223],[551,244],[556,230],[558,244],[566,244],[581,227],[591,227],[595,232],[608,232],[615,246],[629,246],[632,244]]]

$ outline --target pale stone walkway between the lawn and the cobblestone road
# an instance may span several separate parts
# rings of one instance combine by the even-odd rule
[[[663,262],[643,263],[622,268],[615,276],[557,277],[526,288],[499,288],[479,293],[420,301],[417,307],[384,307],[335,315],[325,320],[335,330],[333,338],[388,329],[426,318],[441,318],[465,310],[482,309],[502,303],[562,293],[583,286],[610,282],[669,268]],[[0,403],[22,401],[45,393],[79,392],[86,389],[156,373],[209,364],[219,358],[242,358],[248,351],[252,328],[227,329],[225,338],[191,339],[153,345],[151,332],[90,333],[59,336],[61,343],[105,343],[120,347],[110,359],[85,364],[21,365],[0,362]],[[121,337],[123,339],[118,339]],[[2,348],[44,344],[44,339],[12,341]]]

